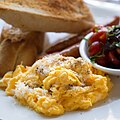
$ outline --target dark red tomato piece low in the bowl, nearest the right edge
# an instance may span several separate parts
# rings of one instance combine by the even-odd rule
[[[120,60],[118,60],[117,57],[115,56],[115,51],[109,51],[108,56],[110,58],[110,61],[114,65],[119,65],[120,64]]]

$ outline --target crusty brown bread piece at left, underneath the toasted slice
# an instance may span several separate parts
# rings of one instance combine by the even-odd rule
[[[44,33],[3,28],[0,37],[0,76],[19,64],[32,65],[42,52],[43,42]]]

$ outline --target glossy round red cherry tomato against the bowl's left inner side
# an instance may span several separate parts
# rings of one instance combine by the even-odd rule
[[[93,55],[99,53],[101,50],[102,50],[101,43],[99,41],[95,41],[90,45],[88,52],[89,52],[90,56],[93,56]]]

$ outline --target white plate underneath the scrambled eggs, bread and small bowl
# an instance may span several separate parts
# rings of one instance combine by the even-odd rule
[[[114,15],[120,15],[119,11],[111,12],[111,10],[96,8],[92,5],[90,8],[97,23],[107,22]],[[55,41],[59,34],[49,33],[48,35],[50,38],[53,36]],[[62,35],[65,36],[66,34],[61,33],[59,36]],[[51,118],[19,105],[14,98],[6,96],[5,92],[0,90],[0,120],[120,120],[120,77],[112,76],[111,78],[114,87],[105,101],[94,105],[88,111],[68,112],[62,116]]]

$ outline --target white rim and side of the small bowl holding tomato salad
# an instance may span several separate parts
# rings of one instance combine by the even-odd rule
[[[79,47],[79,51],[81,54],[81,57],[89,62],[94,68],[99,69],[101,71],[104,71],[105,73],[111,74],[111,75],[118,75],[120,76],[120,69],[112,69],[112,68],[107,68],[107,67],[103,67],[101,65],[98,65],[97,63],[92,63],[91,60],[88,57],[88,52],[87,52],[87,48],[88,48],[88,44],[87,44],[87,40],[89,39],[91,36],[93,35],[93,32],[89,33],[88,35],[85,36],[85,39],[83,39],[80,43],[80,47]]]

